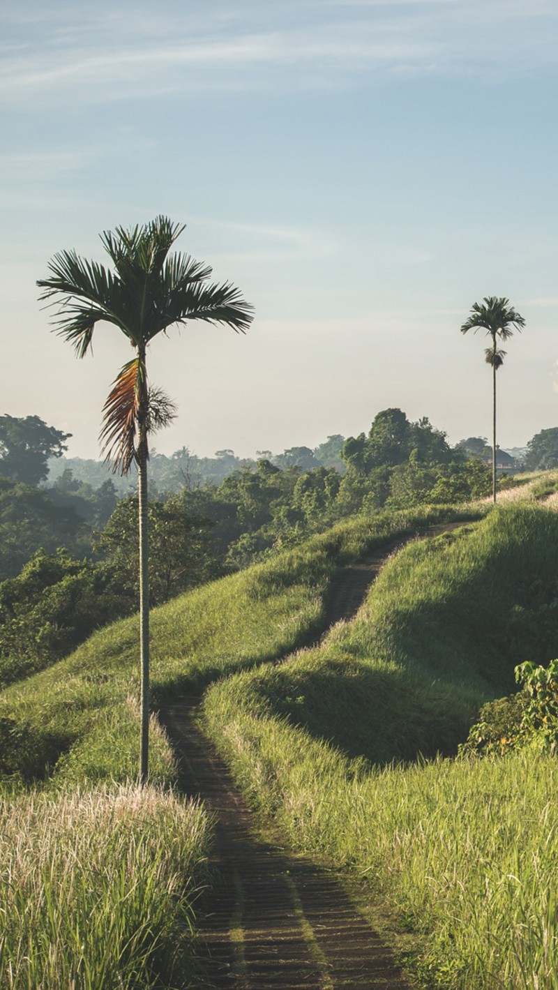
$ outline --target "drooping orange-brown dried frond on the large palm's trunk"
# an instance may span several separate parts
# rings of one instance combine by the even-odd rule
[[[145,391],[145,369],[137,356],[121,368],[103,406],[101,452],[105,462],[121,474],[128,474],[136,459],[139,408]]]

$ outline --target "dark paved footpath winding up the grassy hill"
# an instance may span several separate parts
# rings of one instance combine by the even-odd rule
[[[386,542],[338,575],[326,629],[354,617],[386,560],[428,527]],[[258,838],[253,816],[224,761],[195,723],[199,698],[166,705],[160,720],[179,762],[179,786],[216,821],[214,884],[199,928],[202,986],[216,990],[408,990],[390,949],[351,902],[334,873]]]

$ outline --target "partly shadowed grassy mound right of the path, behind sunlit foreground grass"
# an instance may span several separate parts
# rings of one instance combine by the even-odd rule
[[[558,516],[510,505],[405,546],[356,619],[249,679],[250,696],[348,755],[451,754],[513,668],[556,650]]]

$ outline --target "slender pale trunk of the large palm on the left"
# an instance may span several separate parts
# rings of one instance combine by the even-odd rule
[[[139,502],[139,662],[140,662],[140,740],[139,783],[147,782],[149,753],[149,573],[147,542],[147,433],[144,415],[139,416],[138,444]]]

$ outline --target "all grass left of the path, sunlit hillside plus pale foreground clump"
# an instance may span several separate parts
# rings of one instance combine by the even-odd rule
[[[470,511],[436,508],[360,519],[154,610],[155,702],[309,642],[323,628],[339,568],[394,535]],[[201,813],[180,805],[167,814],[167,795],[160,797],[156,825],[139,817],[140,835],[130,820],[130,828],[106,826],[114,825],[115,781],[137,773],[138,639],[137,619],[117,623],[0,694],[7,843],[0,911],[10,917],[0,948],[2,986],[169,987],[180,967],[191,966],[191,892],[207,845]],[[150,776],[163,786],[176,779],[156,722]],[[28,792],[38,780],[41,792]],[[143,796],[149,806],[149,792]],[[105,811],[91,811],[101,805]],[[137,798],[132,806],[136,820]],[[178,839],[191,851],[180,851]]]

